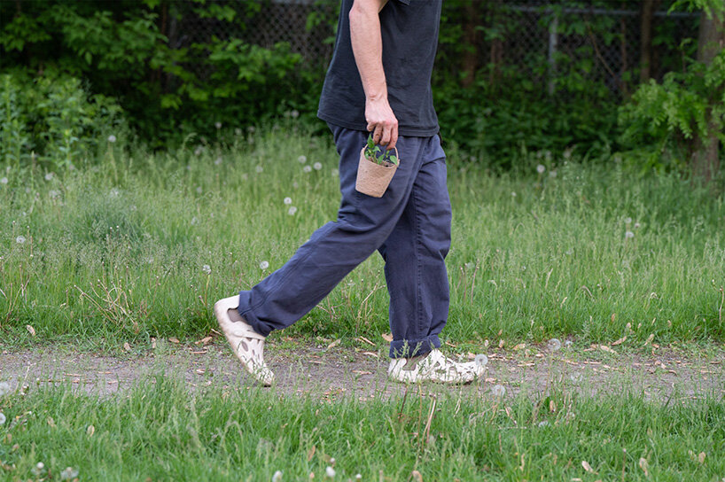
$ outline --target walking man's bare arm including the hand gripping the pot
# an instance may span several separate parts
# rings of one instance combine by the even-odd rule
[[[398,120],[387,101],[383,71],[383,39],[379,13],[387,0],[355,0],[350,9],[350,39],[355,64],[365,90],[365,121],[376,143],[393,149],[398,142]]]

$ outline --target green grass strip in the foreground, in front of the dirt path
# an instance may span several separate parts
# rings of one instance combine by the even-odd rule
[[[721,480],[725,405],[584,398],[401,397],[191,391],[163,372],[111,398],[69,385],[0,398],[0,478],[81,480]],[[603,416],[606,414],[606,416]],[[332,462],[334,458],[334,462]],[[43,463],[43,470],[37,470]],[[585,466],[586,463],[586,466]],[[34,471],[35,470],[35,471]]]

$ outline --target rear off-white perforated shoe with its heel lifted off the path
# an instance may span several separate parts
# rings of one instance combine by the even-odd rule
[[[214,303],[214,315],[246,371],[262,385],[272,385],[275,374],[264,362],[264,336],[260,335],[238,314],[239,297],[220,299]]]

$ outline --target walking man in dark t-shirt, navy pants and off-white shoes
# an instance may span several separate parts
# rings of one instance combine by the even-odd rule
[[[335,51],[318,117],[340,156],[338,219],[317,229],[282,268],[250,291],[214,305],[222,330],[246,369],[264,385],[274,374],[264,338],[316,307],[376,250],[390,295],[391,362],[400,382],[461,384],[483,373],[474,362],[440,353],[448,319],[450,202],[446,158],[433,109],[431,73],[442,0],[342,0]],[[400,152],[382,198],[355,190],[369,133]]]

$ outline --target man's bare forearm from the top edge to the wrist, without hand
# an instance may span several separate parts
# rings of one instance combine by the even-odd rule
[[[349,13],[355,64],[368,100],[387,98],[379,17],[379,11],[385,4],[385,1],[357,0]]]

